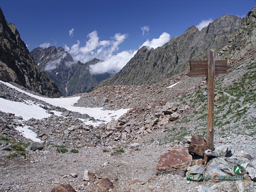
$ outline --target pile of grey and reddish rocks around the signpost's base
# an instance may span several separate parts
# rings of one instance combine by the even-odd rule
[[[239,192],[244,192],[256,181],[256,159],[250,154],[235,156],[227,145],[214,151],[206,150],[205,139],[198,136],[185,137],[183,141],[189,144],[188,148],[173,148],[160,156],[156,167],[158,174],[186,176],[189,181],[225,180],[206,187],[206,190],[226,189],[234,185]]]

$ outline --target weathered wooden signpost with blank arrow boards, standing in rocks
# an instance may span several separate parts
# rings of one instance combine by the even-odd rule
[[[207,52],[207,60],[190,60],[190,72],[186,75],[190,77],[207,76],[207,99],[208,99],[208,122],[207,122],[207,147],[214,150],[213,142],[213,102],[214,102],[214,76],[224,76],[227,74],[227,60],[215,60],[214,50]]]

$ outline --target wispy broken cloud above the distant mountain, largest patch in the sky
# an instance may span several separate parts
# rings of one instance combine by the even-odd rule
[[[116,33],[111,40],[100,41],[97,31],[93,31],[87,35],[88,40],[84,46],[81,46],[80,41],[77,40],[77,43],[73,44],[71,48],[67,45],[64,48],[72,54],[74,60],[79,60],[82,63],[94,58],[105,60],[106,57],[112,56],[113,52],[118,51],[118,46],[127,36],[127,34]]]

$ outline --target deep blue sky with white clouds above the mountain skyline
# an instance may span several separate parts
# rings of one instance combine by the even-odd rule
[[[92,68],[96,73],[117,72],[142,45],[156,48],[203,20],[206,25],[224,14],[246,16],[255,5],[256,0],[0,0],[30,51],[51,45],[82,62],[108,61]]]

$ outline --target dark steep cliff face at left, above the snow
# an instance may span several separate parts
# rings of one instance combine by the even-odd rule
[[[61,96],[56,84],[40,70],[14,24],[0,9],[0,80],[14,82],[49,97]]]

